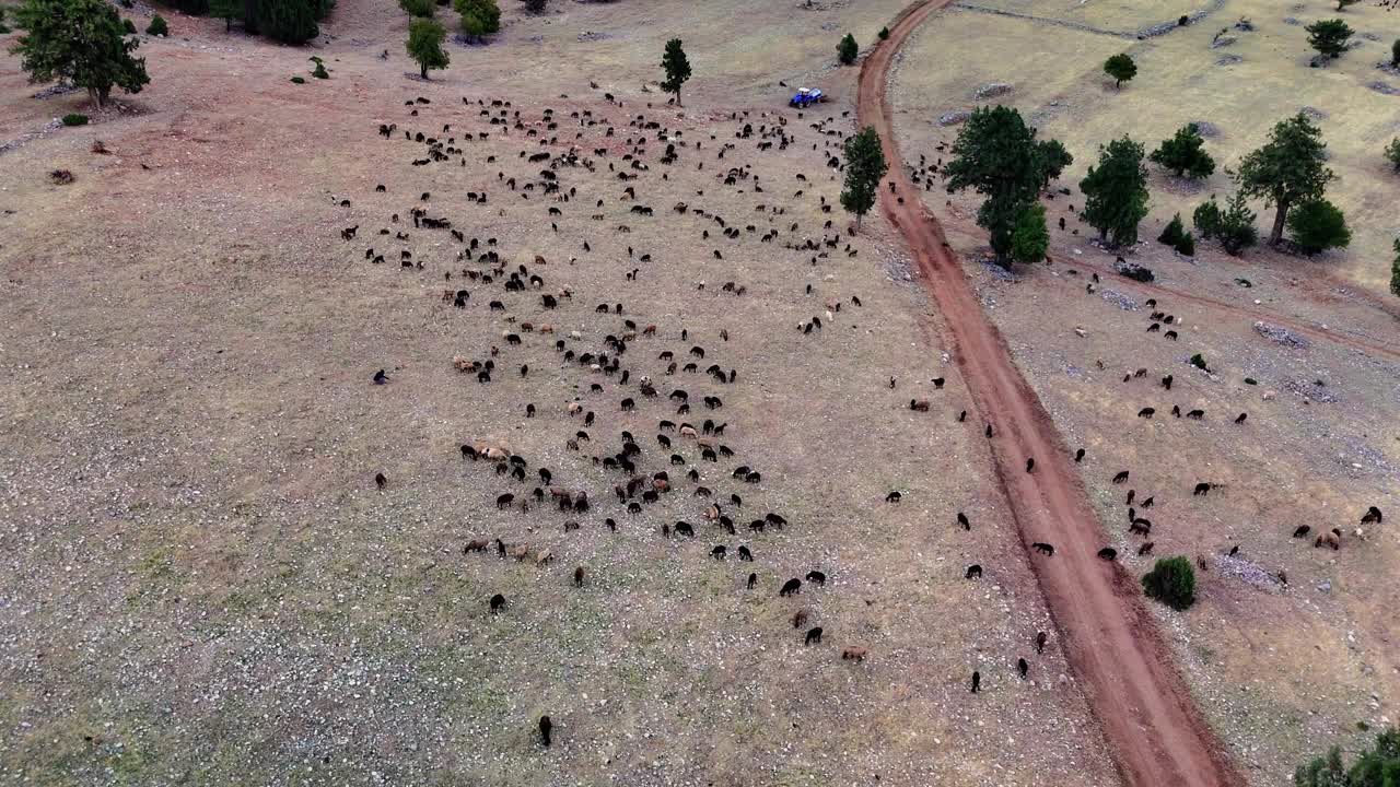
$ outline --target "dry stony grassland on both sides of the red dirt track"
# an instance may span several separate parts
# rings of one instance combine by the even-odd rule
[[[454,43],[451,69],[427,83],[388,0],[340,0],[308,49],[165,14],[172,35],[143,36],[140,50],[151,85],[76,129],[46,126],[85,111],[81,94],[34,98],[45,85],[0,55],[0,146],[13,143],[0,151],[0,781],[1119,783],[990,473],[981,424],[958,420],[969,391],[899,234],[872,214],[848,237],[848,216],[822,210],[840,192],[827,158],[853,129],[855,70],[836,67],[836,41],[850,31],[872,42],[904,4],[556,0],[525,17],[508,1],[501,35]],[[1008,8],[1142,22],[1131,4]],[[966,105],[981,83],[1015,83],[1008,101],[1023,112],[1072,98],[1082,112],[1043,115],[1043,133],[1070,144],[1078,161],[1065,179],[1077,181],[1093,141],[1138,136],[1110,120],[1124,102],[1133,123],[1154,129],[1148,139],[1179,125],[1155,102],[1154,69],[1166,66],[1151,57],[1176,64],[1194,46],[1212,59],[1201,36],[1242,13],[1228,6],[1138,45],[949,10],[904,55],[896,126],[910,157],[937,155],[955,129],[930,116]],[[1376,31],[1389,20],[1365,6],[1347,14]],[[1263,8],[1254,15],[1259,41],[1242,36],[1240,52],[1263,59],[1281,46],[1266,36],[1301,35],[1266,24]],[[1036,62],[993,60],[972,41],[1032,35],[1046,53]],[[672,36],[696,74],[680,108],[655,85]],[[1145,57],[1120,95],[1096,76],[1116,49]],[[1326,71],[1298,66],[1298,84],[1345,78],[1348,90],[1288,99],[1331,112],[1323,127],[1343,175],[1337,200],[1358,230],[1351,251],[1322,262],[1140,255],[1158,255],[1163,287],[1212,301],[1105,277],[1105,288],[1140,304],[1156,295],[1180,315],[1179,344],[1147,339],[1141,308],[1084,294],[1086,265],[1112,256],[1071,235],[1056,235],[1056,265],[1016,284],[969,262],[1056,424],[1086,447],[1084,479],[1109,541],[1141,541],[1126,534],[1126,487],[1109,483],[1131,468],[1127,486],[1158,500],[1156,552],[1208,556],[1201,604],[1161,620],[1256,784],[1284,783],[1303,756],[1359,735],[1358,721],[1396,717],[1400,545],[1389,522],[1352,535],[1365,504],[1400,511],[1400,360],[1373,349],[1396,346],[1396,308],[1378,305],[1380,262],[1365,256],[1393,232],[1394,183],[1365,155],[1379,160],[1394,113],[1352,84],[1376,52],[1368,42]],[[309,55],[332,78],[291,84]],[[1266,69],[1250,63],[1232,69]],[[1172,78],[1201,85],[1189,115],[1221,125],[1225,141],[1212,144],[1232,146],[1218,158],[1233,158],[1285,112],[1236,112],[1219,85],[1191,81],[1214,74],[1201,69]],[[785,109],[798,84],[833,101]],[[501,112],[505,122],[490,123]],[[388,139],[375,133],[389,123]],[[454,151],[414,165],[428,147],[405,132]],[[98,140],[106,153],[94,153]],[[664,164],[668,143],[676,160]],[[528,158],[540,153],[547,160]],[[74,182],[53,183],[53,169]],[[546,195],[554,182],[560,192]],[[1169,199],[1187,197],[1158,199],[1145,235],[1179,209]],[[942,195],[930,207],[949,210]],[[414,227],[416,209],[463,238]],[[956,218],[973,209],[955,199],[945,216],[962,251],[983,242]],[[521,266],[526,287],[508,291]],[[445,288],[468,290],[465,308],[444,301]],[[542,295],[563,290],[571,297],[545,308]],[[804,333],[813,318],[822,326]],[[1280,347],[1250,328],[1266,318],[1317,335],[1309,349]],[[617,353],[608,337],[633,332],[624,321],[637,335]],[[640,330],[648,325],[655,335]],[[556,342],[616,357],[629,381],[566,360]],[[668,374],[664,351],[682,368]],[[1214,375],[1183,363],[1196,351]],[[490,381],[458,371],[455,357],[491,360]],[[697,371],[683,368],[692,361]],[[734,381],[706,374],[710,364]],[[1119,382],[1133,367],[1151,371]],[[381,368],[388,382],[375,385]],[[1152,381],[1170,371],[1168,394]],[[657,398],[641,394],[643,377]],[[689,415],[676,413],[675,389],[689,394]],[[911,412],[911,398],[928,398],[930,412]],[[573,401],[580,415],[567,412]],[[1170,419],[1173,402],[1208,417]],[[1155,420],[1133,416],[1149,403]],[[1226,420],[1235,410],[1250,412],[1247,426]],[[700,437],[734,455],[704,461],[697,440],[659,430],[662,419],[724,423],[722,436]],[[641,450],[638,476],[671,476],[671,492],[638,513],[613,494],[629,476],[594,461],[622,451],[623,431]],[[526,480],[465,459],[463,444],[507,447]],[[741,465],[762,480],[735,479]],[[591,507],[561,513],[547,493],[536,504],[533,487],[550,486],[539,468],[553,486],[587,490]],[[1225,489],[1193,499],[1197,480]],[[515,496],[504,510],[503,493]],[[735,534],[706,520],[710,503]],[[749,529],[769,513],[787,525]],[[694,539],[664,535],[679,521]],[[1289,539],[1302,522],[1345,527],[1343,550]],[[469,541],[496,538],[531,557],[501,559],[494,546],[463,555]],[[1236,559],[1217,556],[1236,543]],[[711,557],[717,545],[724,560]],[[543,550],[552,562],[538,564]],[[983,578],[965,580],[974,563]],[[1245,581],[1253,566],[1287,570],[1288,585]],[[812,570],[825,585],[780,598],[785,580]],[[493,615],[494,594],[507,602]],[[804,646],[812,626],[822,641]],[[1050,644],[1036,654],[1042,630]],[[846,661],[847,647],[868,657]],[[549,749],[542,714],[554,724]]]

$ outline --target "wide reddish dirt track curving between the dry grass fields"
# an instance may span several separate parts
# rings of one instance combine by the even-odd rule
[[[890,62],[909,34],[949,1],[913,4],[861,67],[860,122],[879,133],[895,182],[893,193],[881,189],[881,207],[909,242],[924,287],[942,311],[973,408],[995,430],[995,471],[1022,546],[1028,555],[1033,542],[1056,548],[1053,557],[1030,555],[1030,562],[1124,781],[1141,787],[1243,784],[1197,711],[1135,578],[1119,563],[1098,557],[1103,532],[1068,451],[903,169],[885,95]],[[1036,459],[1033,473],[1025,472],[1026,458]]]

